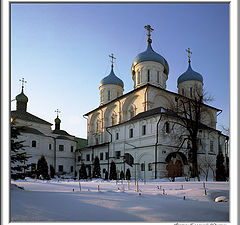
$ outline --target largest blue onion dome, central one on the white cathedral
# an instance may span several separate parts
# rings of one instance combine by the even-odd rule
[[[145,61],[153,61],[153,62],[158,62],[161,63],[164,66],[164,73],[168,75],[169,73],[169,66],[166,61],[161,55],[156,53],[151,46],[151,43],[148,43],[147,49],[138,54],[134,61],[133,61],[133,66],[136,66],[140,62],[145,62]]]

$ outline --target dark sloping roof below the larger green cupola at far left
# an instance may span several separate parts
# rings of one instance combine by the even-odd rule
[[[11,117],[14,119],[21,119],[25,121],[40,123],[40,124],[46,124],[52,126],[51,123],[47,122],[46,120],[43,120],[37,116],[32,115],[31,113],[21,111],[21,110],[15,110],[11,111]]]

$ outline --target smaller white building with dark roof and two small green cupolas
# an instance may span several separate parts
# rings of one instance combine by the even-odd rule
[[[22,92],[16,96],[16,110],[11,111],[11,118],[16,126],[24,126],[24,131],[18,137],[18,141],[24,141],[24,151],[28,160],[24,164],[30,165],[25,171],[36,173],[37,162],[44,155],[50,172],[50,166],[55,169],[57,175],[74,177],[76,170],[74,136],[60,129],[61,120],[55,119],[55,129],[52,124],[27,112],[28,97]]]

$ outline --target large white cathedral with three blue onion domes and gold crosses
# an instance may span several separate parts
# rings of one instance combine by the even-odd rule
[[[188,49],[188,69],[177,80],[178,93],[168,91],[166,82],[169,66],[152,48],[151,26],[148,30],[147,48],[138,54],[132,64],[134,89],[123,94],[124,83],[114,73],[113,55],[111,72],[100,82],[100,105],[86,113],[88,146],[76,152],[76,171],[81,163],[91,176],[93,161],[100,160],[101,176],[115,162],[118,178],[129,168],[131,177],[156,179],[168,176],[168,165],[178,164],[178,176],[189,176],[189,148],[184,141],[189,132],[183,129],[182,120],[168,112],[178,107],[181,99],[191,100],[203,94],[203,77],[191,67]],[[201,103],[201,121],[197,134],[199,167],[206,161],[212,163],[216,156],[228,152],[228,137],[216,130],[220,109]],[[127,163],[132,158],[132,163]],[[201,170],[200,170],[201,171]],[[209,172],[211,173],[211,171]]]

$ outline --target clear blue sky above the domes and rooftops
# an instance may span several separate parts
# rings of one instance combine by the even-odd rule
[[[87,136],[83,114],[99,106],[99,83],[110,73],[109,54],[124,93],[133,89],[131,64],[146,48],[150,24],[152,47],[169,64],[167,89],[177,92],[186,71],[186,48],[192,68],[202,74],[204,89],[222,109],[220,125],[229,127],[229,4],[12,4],[11,99],[27,80],[28,112],[61,128]],[[15,101],[11,109],[15,109]]]

